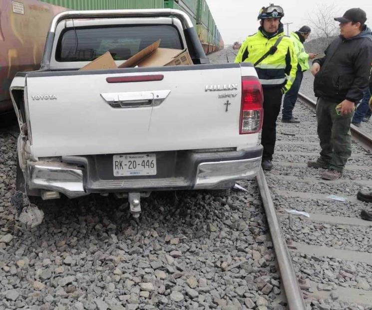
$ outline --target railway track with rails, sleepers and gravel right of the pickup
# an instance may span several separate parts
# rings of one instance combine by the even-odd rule
[[[299,279],[311,309],[370,310],[372,223],[359,217],[370,206],[356,194],[362,187],[372,188],[372,137],[352,125],[353,154],[343,177],[321,179],[324,169],[306,164],[320,151],[316,103],[303,94],[299,100],[303,105],[294,112],[301,123],[285,124],[278,118],[274,169],[257,176],[288,307],[305,309]],[[298,212],[309,217],[293,214]]]

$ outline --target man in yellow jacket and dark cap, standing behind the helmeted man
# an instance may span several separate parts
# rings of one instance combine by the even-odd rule
[[[291,89],[284,96],[282,110],[283,123],[300,123],[299,120],[293,117],[292,111],[297,101],[304,72],[310,69],[309,59],[314,59],[316,56],[314,53],[307,53],[303,44],[309,37],[310,32],[311,29],[309,26],[302,26],[298,31],[291,33],[299,64],[297,65],[296,79],[293,82]]]

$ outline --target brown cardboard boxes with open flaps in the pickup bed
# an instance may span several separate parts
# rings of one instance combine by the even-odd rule
[[[137,54],[130,57],[120,66],[116,66],[109,52],[88,63],[80,70],[99,70],[138,67],[162,67],[192,65],[190,54],[187,49],[159,48],[160,40],[152,43]]]

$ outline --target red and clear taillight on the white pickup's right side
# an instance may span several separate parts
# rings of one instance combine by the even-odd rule
[[[262,86],[253,76],[242,77],[242,106],[239,134],[254,134],[261,130],[264,119]]]

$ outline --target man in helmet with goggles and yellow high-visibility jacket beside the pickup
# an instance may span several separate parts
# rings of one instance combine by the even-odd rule
[[[235,62],[253,63],[264,91],[264,122],[261,144],[264,147],[262,168],[271,170],[276,142],[276,122],[282,96],[296,78],[297,55],[292,39],[284,35],[283,8],[270,4],[260,10],[259,31],[242,44]]]

